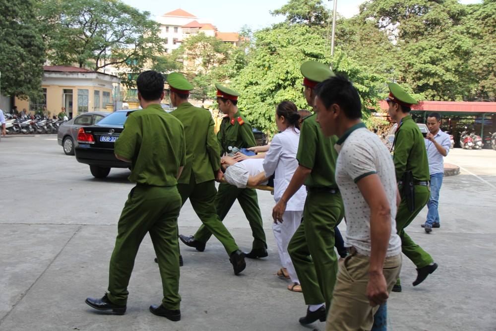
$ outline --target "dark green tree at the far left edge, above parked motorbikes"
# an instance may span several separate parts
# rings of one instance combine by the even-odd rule
[[[41,96],[45,47],[39,35],[33,0],[0,0],[1,92]]]

